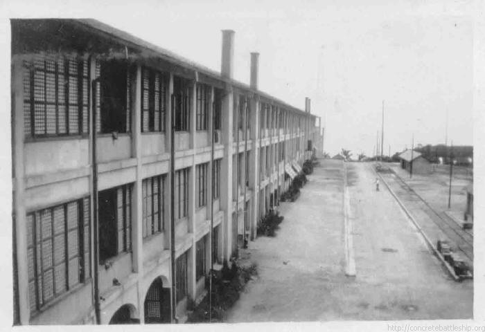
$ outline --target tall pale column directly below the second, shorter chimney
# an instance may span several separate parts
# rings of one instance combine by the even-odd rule
[[[261,136],[259,99],[254,96],[249,100],[251,104],[251,156],[249,157],[249,188],[253,191],[251,201],[250,232],[249,238],[256,239],[256,224],[258,222],[258,202],[259,202],[259,137]]]

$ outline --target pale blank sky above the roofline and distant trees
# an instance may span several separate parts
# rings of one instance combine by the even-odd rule
[[[249,53],[259,52],[259,89],[301,109],[311,98],[330,154],[373,154],[382,101],[385,154],[389,145],[391,154],[410,148],[413,135],[415,145],[445,143],[447,114],[448,144],[473,144],[470,1],[148,0],[108,8],[105,0],[96,11],[70,3],[54,12],[66,17],[69,8],[67,17],[98,19],[215,71],[221,30],[235,30],[234,78],[249,84]]]

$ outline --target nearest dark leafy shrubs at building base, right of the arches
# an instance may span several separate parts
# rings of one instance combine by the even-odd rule
[[[238,266],[233,261],[231,268],[229,268],[227,262],[224,262],[222,273],[219,276],[212,275],[211,322],[224,322],[229,308],[239,299],[240,292],[243,291],[249,279],[252,279],[256,275],[258,275],[256,264],[252,264],[251,266]],[[207,280],[209,280],[209,277]],[[187,322],[209,322],[209,296],[204,297],[202,302],[188,315]]]

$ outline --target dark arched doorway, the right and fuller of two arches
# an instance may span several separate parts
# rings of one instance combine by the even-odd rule
[[[170,288],[161,277],[152,282],[145,297],[145,324],[170,323]]]

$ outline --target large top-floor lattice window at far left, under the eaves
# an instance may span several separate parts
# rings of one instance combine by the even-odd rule
[[[75,55],[24,61],[26,137],[88,133],[89,65]]]

